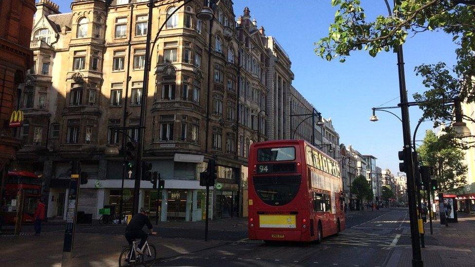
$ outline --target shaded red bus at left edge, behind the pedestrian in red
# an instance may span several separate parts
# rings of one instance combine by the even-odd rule
[[[41,197],[41,179],[37,175],[25,171],[8,172],[5,183],[5,201],[10,206],[12,199],[16,200],[18,191],[23,191],[23,223],[31,223],[34,221],[35,208],[37,200]],[[18,207],[9,207],[9,210],[15,210]],[[5,223],[15,223],[16,212],[3,213]]]

